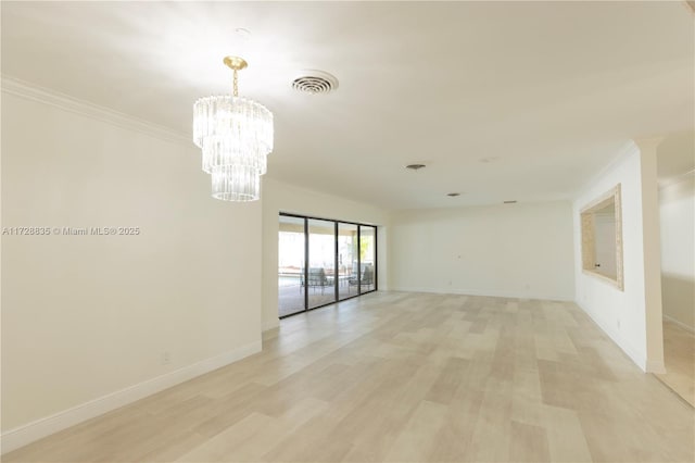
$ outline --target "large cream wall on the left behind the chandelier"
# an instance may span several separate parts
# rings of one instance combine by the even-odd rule
[[[2,226],[140,234],[2,236],[3,451],[261,348],[261,204],[212,199],[192,143],[12,88]]]

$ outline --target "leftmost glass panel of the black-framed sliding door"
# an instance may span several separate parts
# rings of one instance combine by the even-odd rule
[[[304,218],[280,215],[278,234],[278,314],[304,311]]]

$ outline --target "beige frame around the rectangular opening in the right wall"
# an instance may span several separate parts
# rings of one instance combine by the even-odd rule
[[[596,271],[596,238],[594,227],[594,213],[606,208],[610,203],[615,208],[616,225],[616,278]],[[622,200],[620,184],[598,196],[580,210],[580,223],[582,234],[582,272],[603,281],[609,283],[621,291],[624,291],[623,255],[622,255]]]

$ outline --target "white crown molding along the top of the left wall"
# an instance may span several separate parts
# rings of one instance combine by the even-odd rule
[[[88,101],[45,87],[39,87],[7,75],[2,75],[1,83],[3,93],[14,95],[38,103],[60,108],[64,111],[79,114],[96,121],[101,121],[128,130],[139,132],[167,141],[192,145],[192,137],[190,134],[182,134],[168,127],[114,111],[110,108],[90,103]]]

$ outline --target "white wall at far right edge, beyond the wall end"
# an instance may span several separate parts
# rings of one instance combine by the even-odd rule
[[[664,315],[695,330],[695,176],[659,191]]]

